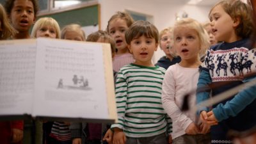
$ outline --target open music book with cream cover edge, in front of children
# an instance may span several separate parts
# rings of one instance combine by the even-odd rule
[[[109,44],[0,41],[0,119],[116,122]]]

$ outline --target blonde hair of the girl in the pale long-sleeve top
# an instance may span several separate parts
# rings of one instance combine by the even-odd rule
[[[204,56],[205,52],[207,51],[207,49],[210,47],[210,41],[209,41],[209,35],[207,33],[207,31],[204,29],[204,27],[202,26],[202,24],[200,24],[200,22],[198,22],[195,19],[191,19],[191,18],[185,18],[185,19],[180,19],[177,22],[175,22],[174,26],[173,26],[173,31],[176,28],[179,27],[184,27],[184,28],[191,28],[191,29],[195,29],[195,31],[197,31],[199,40],[200,40],[200,56]],[[175,40],[174,40],[175,42]]]

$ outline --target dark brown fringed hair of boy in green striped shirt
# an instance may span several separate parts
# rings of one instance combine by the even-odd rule
[[[137,20],[130,26],[125,33],[125,40],[127,44],[131,44],[132,40],[143,35],[154,38],[156,40],[156,44],[158,44],[159,33],[156,26],[144,20]]]

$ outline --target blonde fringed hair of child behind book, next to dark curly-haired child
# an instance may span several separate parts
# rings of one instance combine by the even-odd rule
[[[35,25],[33,26],[31,36],[36,38],[36,31],[44,26],[52,26],[56,30],[56,38],[60,38],[60,26],[55,19],[51,17],[42,17],[36,20]]]

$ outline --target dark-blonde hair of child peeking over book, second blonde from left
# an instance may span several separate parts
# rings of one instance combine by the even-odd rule
[[[67,31],[76,31],[77,33],[79,33],[82,36],[83,41],[85,41],[85,39],[86,39],[86,35],[79,24],[68,24],[67,26],[65,26],[61,30],[61,39],[65,38]]]

